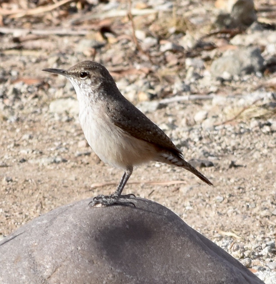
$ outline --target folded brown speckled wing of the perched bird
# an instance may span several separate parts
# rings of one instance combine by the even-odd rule
[[[171,139],[155,123],[126,100],[121,93],[116,95],[113,97],[112,103],[107,105],[107,108],[111,121],[117,127],[135,138],[153,143],[160,148],[175,153],[177,156],[182,156],[180,150],[175,147]]]

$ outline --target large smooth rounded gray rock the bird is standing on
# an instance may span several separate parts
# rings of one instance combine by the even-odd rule
[[[263,283],[158,203],[90,208],[89,201],[59,207],[3,239],[0,283]]]

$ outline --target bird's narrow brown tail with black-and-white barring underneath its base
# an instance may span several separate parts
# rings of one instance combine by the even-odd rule
[[[166,163],[169,165],[175,165],[177,167],[182,167],[187,171],[190,171],[192,174],[196,175],[202,181],[206,182],[206,184],[213,185],[208,178],[203,176],[196,168],[194,168],[190,163],[185,161],[182,157],[173,155],[172,153],[162,154],[161,157],[157,160],[158,162]]]

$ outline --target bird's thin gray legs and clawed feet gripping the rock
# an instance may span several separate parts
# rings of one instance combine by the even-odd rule
[[[111,195],[98,195],[96,197],[93,198],[93,201],[89,202],[89,204],[91,203],[92,206],[94,206],[95,204],[103,204],[105,206],[109,206],[109,205],[113,205],[113,204],[121,204],[121,205],[134,205],[134,203],[132,202],[121,202],[119,201],[119,198],[130,198],[131,196],[134,196],[134,194],[128,194],[128,195],[121,195],[123,188],[125,187],[128,179],[130,178],[131,174],[133,171],[133,167],[128,168],[122,178],[121,181],[116,189],[116,191],[111,194]],[[134,205],[135,207],[135,205]]]

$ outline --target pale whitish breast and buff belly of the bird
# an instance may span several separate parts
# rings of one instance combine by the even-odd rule
[[[80,124],[84,136],[99,156],[109,165],[126,170],[129,166],[155,160],[157,150],[152,144],[130,136],[107,117],[104,106],[82,94],[72,81],[80,104]]]

